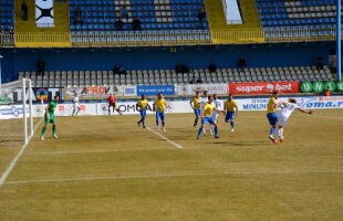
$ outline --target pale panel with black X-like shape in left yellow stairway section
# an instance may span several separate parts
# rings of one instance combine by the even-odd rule
[[[53,28],[53,0],[35,0],[35,25],[38,28]]]

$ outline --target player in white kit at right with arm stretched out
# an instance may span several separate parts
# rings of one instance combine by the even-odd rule
[[[312,110],[300,108],[300,106],[297,104],[297,99],[294,98],[289,98],[288,102],[280,103],[279,107],[281,107],[281,109],[278,113],[277,129],[276,129],[274,138],[272,139],[274,144],[278,143],[279,138],[280,138],[280,143],[283,141],[283,126],[285,125],[287,120],[289,119],[289,117],[295,109],[302,113],[305,113],[305,114],[312,114]]]

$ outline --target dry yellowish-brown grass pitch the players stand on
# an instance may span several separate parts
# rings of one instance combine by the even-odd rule
[[[264,112],[240,113],[235,133],[221,117],[220,138],[200,140],[191,114],[167,115],[158,134],[153,115],[152,130],[137,118],[38,131],[0,187],[0,220],[342,220],[343,109],[293,114],[277,146]],[[0,173],[18,150],[0,147]]]

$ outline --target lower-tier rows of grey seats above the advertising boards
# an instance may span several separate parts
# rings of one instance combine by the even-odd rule
[[[318,71],[315,66],[290,67],[246,67],[191,70],[189,73],[176,73],[175,70],[136,70],[127,74],[113,74],[113,71],[56,71],[45,72],[38,76],[37,72],[20,72],[19,78],[32,80],[33,86],[85,86],[85,85],[125,85],[125,84],[189,84],[191,77],[201,78],[202,83],[227,82],[270,82],[270,81],[305,81],[334,80],[333,74],[324,66]]]

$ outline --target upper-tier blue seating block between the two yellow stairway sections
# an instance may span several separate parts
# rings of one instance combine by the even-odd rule
[[[123,31],[132,31],[132,21],[138,18],[142,30],[201,30],[207,29],[205,19],[197,15],[204,0],[70,0],[71,30],[114,31],[115,22],[122,18]],[[76,12],[82,22],[74,22]]]

